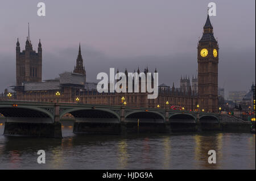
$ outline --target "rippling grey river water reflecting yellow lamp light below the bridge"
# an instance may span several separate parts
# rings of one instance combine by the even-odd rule
[[[255,169],[255,134],[176,133],[80,135],[63,125],[63,139],[3,136],[0,169]],[[46,152],[39,164],[38,150]],[[216,151],[216,164],[208,151]]]

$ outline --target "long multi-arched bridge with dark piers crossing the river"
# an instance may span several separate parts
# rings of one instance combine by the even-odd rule
[[[218,128],[216,113],[79,103],[0,102],[6,135],[61,137],[60,119],[75,117],[74,133],[122,134]]]

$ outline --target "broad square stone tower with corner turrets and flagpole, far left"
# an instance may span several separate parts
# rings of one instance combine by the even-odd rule
[[[20,52],[19,39],[16,43],[16,86],[22,82],[42,82],[42,44],[39,40],[38,53],[32,49],[29,27],[25,50]]]

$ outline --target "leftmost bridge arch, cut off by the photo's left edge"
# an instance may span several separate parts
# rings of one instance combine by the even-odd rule
[[[45,117],[54,121],[53,113],[38,107],[0,105],[0,113],[5,117]]]

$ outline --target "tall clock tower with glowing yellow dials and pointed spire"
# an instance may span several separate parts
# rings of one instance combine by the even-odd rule
[[[209,15],[197,46],[197,62],[200,110],[218,112],[218,42],[213,36]]]

